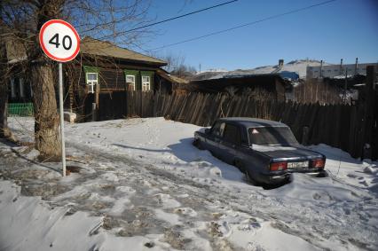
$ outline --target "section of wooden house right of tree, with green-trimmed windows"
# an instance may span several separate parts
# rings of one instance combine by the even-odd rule
[[[100,94],[141,90],[169,94],[178,82],[161,67],[161,59],[130,51],[91,37],[81,41],[80,53],[67,67],[67,100],[65,107],[83,114],[88,95],[94,95],[97,106]]]

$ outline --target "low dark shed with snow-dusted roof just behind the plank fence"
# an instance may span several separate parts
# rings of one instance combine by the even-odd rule
[[[287,92],[293,90],[291,83],[279,74],[229,75],[217,79],[193,81],[180,86],[188,92],[246,94],[249,90],[263,90],[277,100],[285,100]]]

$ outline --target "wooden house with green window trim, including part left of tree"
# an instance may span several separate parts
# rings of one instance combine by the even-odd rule
[[[7,44],[8,64],[15,66],[9,102],[31,102],[33,91],[24,74],[25,67],[17,67],[27,58],[26,52],[22,46],[14,44],[19,43]],[[111,97],[116,91],[140,90],[170,94],[183,81],[170,76],[161,68],[166,65],[161,59],[85,37],[76,59],[63,64],[65,109],[79,114],[80,118],[80,115],[85,114],[84,106],[89,97],[98,107],[101,106],[99,95]]]

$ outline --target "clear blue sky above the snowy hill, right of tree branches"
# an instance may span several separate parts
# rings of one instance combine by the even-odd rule
[[[199,35],[290,12],[325,0],[239,0],[151,27],[143,43],[152,50]],[[227,0],[154,0],[150,17],[164,20]],[[279,59],[323,59],[328,63],[378,62],[378,0],[336,0],[220,35],[153,50],[177,55],[197,70],[249,69],[276,65]]]

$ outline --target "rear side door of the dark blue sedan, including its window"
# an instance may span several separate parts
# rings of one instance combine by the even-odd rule
[[[219,143],[221,150],[221,159],[227,163],[233,164],[237,155],[238,148],[240,147],[240,128],[239,126],[226,123],[224,128],[224,134]]]

